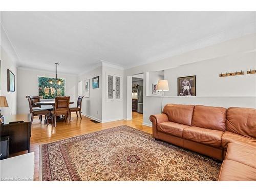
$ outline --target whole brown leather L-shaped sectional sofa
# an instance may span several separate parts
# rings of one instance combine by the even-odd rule
[[[230,168],[236,166],[243,170],[248,166],[251,176],[254,173],[254,177],[240,175],[239,180],[256,180],[256,160],[250,153],[256,151],[256,109],[167,104],[162,114],[151,115],[150,120],[154,138],[221,161],[225,159],[219,180],[236,179],[225,176],[227,169],[232,176],[238,174],[237,169]],[[237,155],[233,155],[235,151]],[[244,153],[251,160],[249,164],[247,160],[242,161]],[[230,159],[230,156],[238,156],[238,159]]]

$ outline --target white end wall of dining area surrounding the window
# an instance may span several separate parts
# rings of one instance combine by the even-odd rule
[[[17,113],[29,113],[29,103],[26,98],[29,96],[38,96],[38,77],[56,77],[55,73],[18,68],[18,94],[17,94]],[[74,101],[76,106],[78,78],[76,76],[58,74],[59,78],[65,79],[65,95],[70,96],[70,101]]]

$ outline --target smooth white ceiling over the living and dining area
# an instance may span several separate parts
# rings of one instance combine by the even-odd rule
[[[255,27],[255,12],[1,12],[1,23],[19,66],[54,71],[58,62],[60,72],[80,74],[99,60],[127,69],[230,29],[255,32],[244,30]]]

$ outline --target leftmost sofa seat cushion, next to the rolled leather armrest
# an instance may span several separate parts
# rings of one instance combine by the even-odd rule
[[[174,135],[182,138],[182,133],[189,125],[179,124],[175,122],[162,122],[157,124],[157,130],[163,133]]]

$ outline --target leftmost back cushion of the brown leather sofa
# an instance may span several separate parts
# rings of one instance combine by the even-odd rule
[[[193,110],[194,105],[166,104],[163,108],[163,113],[167,115],[169,121],[191,126]]]

